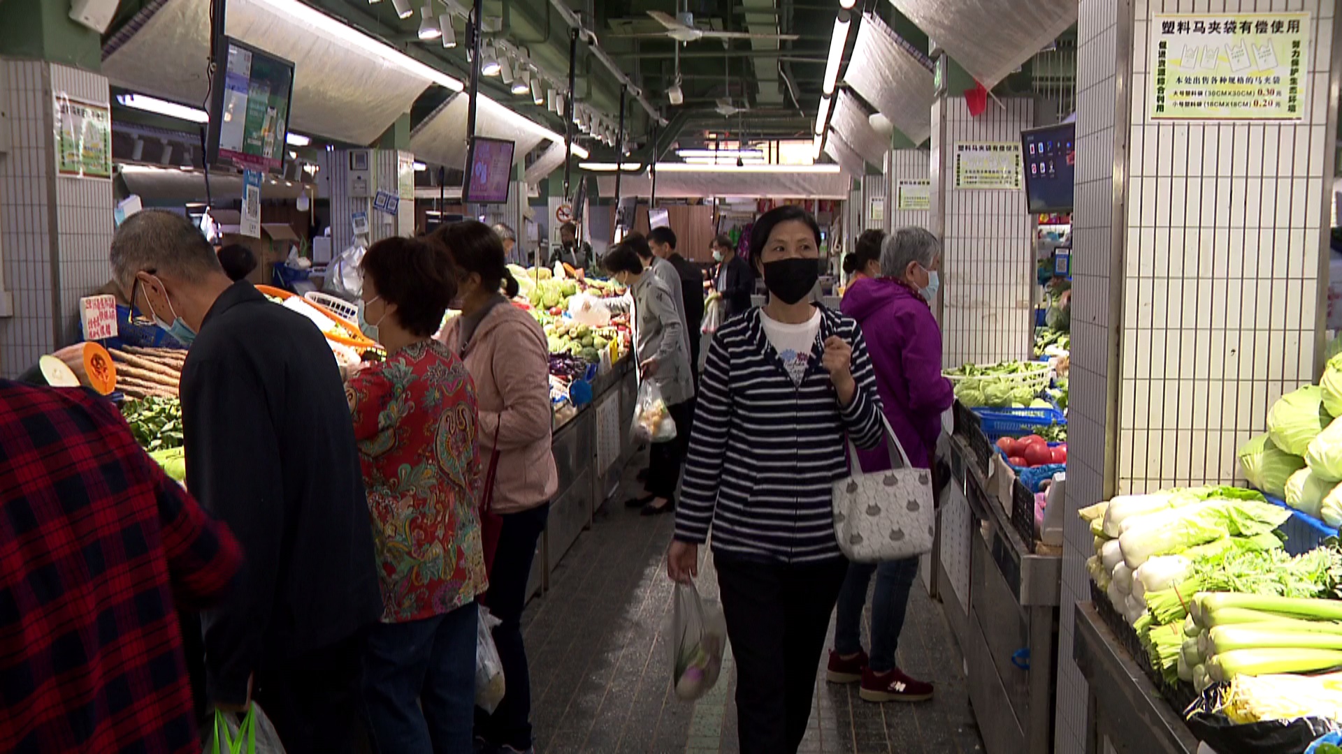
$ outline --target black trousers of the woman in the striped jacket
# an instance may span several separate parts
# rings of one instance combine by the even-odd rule
[[[714,555],[737,663],[741,754],[796,754],[848,561],[786,565]]]

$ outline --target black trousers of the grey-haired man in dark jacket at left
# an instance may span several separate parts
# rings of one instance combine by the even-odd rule
[[[358,714],[364,632],[256,669],[252,698],[287,754],[352,754],[364,735]]]

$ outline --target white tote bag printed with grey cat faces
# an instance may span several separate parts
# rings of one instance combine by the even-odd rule
[[[848,440],[851,476],[835,482],[835,538],[849,561],[899,561],[931,551],[937,531],[931,471],[914,468],[884,415],[890,470],[863,474]]]

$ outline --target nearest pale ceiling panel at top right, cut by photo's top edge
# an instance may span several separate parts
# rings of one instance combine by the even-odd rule
[[[1078,13],[1076,0],[890,1],[986,89],[1057,39]]]

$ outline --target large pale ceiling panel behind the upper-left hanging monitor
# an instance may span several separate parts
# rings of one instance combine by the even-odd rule
[[[102,74],[115,85],[174,102],[203,103],[208,90],[209,3],[165,0],[136,20],[137,30],[105,50]],[[372,144],[431,79],[413,75],[302,21],[264,0],[229,0],[225,34],[293,60],[293,130]]]

